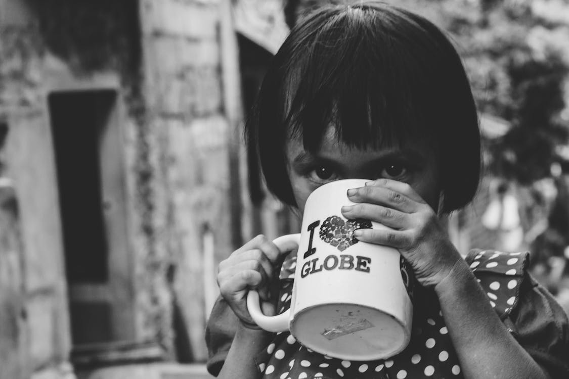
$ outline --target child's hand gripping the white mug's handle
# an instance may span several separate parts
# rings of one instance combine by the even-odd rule
[[[284,256],[271,240],[258,235],[219,264],[217,285],[221,296],[244,326],[257,328],[247,310],[249,289],[259,292],[264,314],[275,314]]]

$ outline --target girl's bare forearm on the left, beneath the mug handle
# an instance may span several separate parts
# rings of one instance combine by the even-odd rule
[[[255,356],[266,348],[272,336],[271,333],[264,330],[251,329],[239,323],[218,378],[253,379],[261,377]]]

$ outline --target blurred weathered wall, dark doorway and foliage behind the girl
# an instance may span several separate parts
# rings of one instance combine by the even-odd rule
[[[220,260],[298,230],[242,121],[325,0],[0,0],[0,378],[207,377]],[[569,0],[399,0],[471,78],[485,171],[446,224],[569,310]]]

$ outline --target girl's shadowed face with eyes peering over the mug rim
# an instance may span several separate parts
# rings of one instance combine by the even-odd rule
[[[436,211],[438,207],[440,186],[435,151],[421,141],[409,141],[402,148],[359,149],[339,141],[331,126],[314,155],[304,150],[302,139],[294,138],[287,143],[286,156],[292,192],[301,212],[308,195],[316,188],[351,178],[406,182],[432,209]]]

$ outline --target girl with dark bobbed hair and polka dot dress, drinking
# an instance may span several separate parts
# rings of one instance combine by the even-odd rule
[[[567,317],[527,275],[525,255],[471,252],[464,260],[439,216],[467,205],[480,173],[477,114],[460,58],[427,20],[380,2],[325,7],[295,27],[274,58],[248,122],[267,187],[302,213],[329,181],[370,178],[348,191],[363,218],[390,231],[357,238],[395,247],[413,268],[409,346],[388,360],[342,361],[290,334],[258,328],[290,306],[287,257],[257,236],[222,261],[209,320],[208,368],[221,378],[568,377]]]

